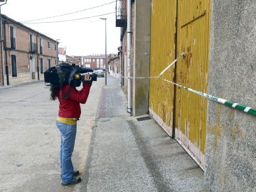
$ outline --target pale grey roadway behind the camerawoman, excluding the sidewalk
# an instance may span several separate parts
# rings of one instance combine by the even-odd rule
[[[93,82],[81,105],[73,164],[84,173],[92,127],[105,78]],[[0,89],[0,191],[80,191],[60,184],[58,100],[44,82]]]

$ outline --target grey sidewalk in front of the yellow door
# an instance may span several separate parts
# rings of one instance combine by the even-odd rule
[[[203,171],[149,115],[127,113],[119,79],[107,76],[82,191],[203,191]]]

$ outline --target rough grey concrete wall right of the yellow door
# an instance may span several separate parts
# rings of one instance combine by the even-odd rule
[[[208,92],[256,107],[256,1],[212,0]],[[208,102],[206,190],[256,191],[256,117]]]

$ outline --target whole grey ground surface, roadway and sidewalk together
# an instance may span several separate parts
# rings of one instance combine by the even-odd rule
[[[60,183],[58,101],[43,82],[0,89],[0,191],[194,192],[203,171],[154,119],[127,113],[119,79],[93,82],[82,106],[73,164],[82,182]]]

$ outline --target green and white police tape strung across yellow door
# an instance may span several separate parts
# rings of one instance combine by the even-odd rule
[[[181,55],[179,55],[178,58],[176,58],[176,60],[174,60],[174,62],[170,63],[170,65],[168,65],[168,66],[159,74],[159,76],[156,76],[156,77],[135,77],[135,78],[134,78],[134,77],[124,77],[124,76],[122,76],[122,75],[119,75],[119,76],[120,76],[121,78],[126,78],[126,79],[150,79],[150,78],[159,78],[159,79],[164,80],[164,81],[166,81],[166,82],[169,82],[169,83],[171,83],[171,84],[173,84],[173,85],[176,85],[176,86],[178,86],[178,87],[181,87],[181,88],[183,88],[184,90],[191,91],[191,92],[193,92],[193,93],[196,93],[197,95],[201,95],[201,96],[206,97],[206,98],[208,98],[208,99],[210,99],[210,100],[213,100],[213,101],[215,101],[215,102],[219,102],[219,103],[221,103],[221,104],[223,104],[223,105],[226,105],[226,106],[228,106],[228,107],[233,107],[233,108],[235,108],[235,109],[237,109],[237,110],[241,110],[241,111],[243,111],[243,112],[246,112],[246,113],[248,113],[248,114],[252,114],[252,115],[255,115],[255,116],[256,116],[256,109],[255,109],[255,108],[247,107],[247,106],[245,106],[245,105],[241,105],[241,104],[239,104],[239,103],[237,103],[237,102],[232,102],[232,101],[230,101],[230,100],[224,100],[224,99],[222,99],[222,98],[220,98],[220,97],[215,97],[215,96],[209,95],[209,94],[207,94],[207,93],[205,93],[205,92],[200,92],[200,91],[198,91],[198,90],[193,90],[193,89],[191,89],[191,88],[189,88],[189,87],[185,87],[185,86],[183,86],[183,85],[179,85],[179,84],[176,83],[176,82],[172,82],[172,81],[170,81],[170,80],[166,80],[166,79],[164,79],[164,78],[161,78],[161,75],[163,75],[163,74],[166,72],[166,70],[168,70],[172,65],[174,65],[174,63],[177,62],[177,60],[178,60],[179,58],[181,58],[181,56],[184,56],[184,55],[185,55],[185,53],[181,53]]]

